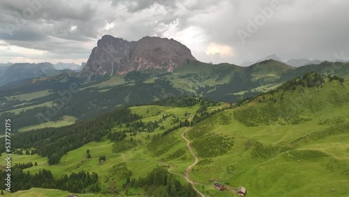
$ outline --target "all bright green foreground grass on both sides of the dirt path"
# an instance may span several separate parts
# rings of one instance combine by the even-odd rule
[[[334,91],[340,101],[331,103],[329,101],[333,98],[329,95],[334,95]],[[349,102],[345,99],[348,93],[348,85],[343,87],[338,82],[326,82],[322,88],[297,88],[285,92],[283,101],[280,92],[265,96],[265,102],[255,100],[209,117],[186,133],[195,154],[199,156],[199,163],[191,170],[191,180],[203,184],[196,187],[206,196],[236,196],[230,191],[214,189],[213,183],[207,182],[212,177],[232,188],[246,187],[248,196],[349,196]],[[276,99],[276,103],[268,105],[269,98]],[[158,120],[168,114],[184,120],[187,118],[184,112],[194,115],[199,107],[151,105],[133,107],[131,111],[142,115],[143,122]],[[285,115],[278,114],[280,109],[286,112]],[[235,113],[242,110],[245,110],[242,117],[237,117]],[[285,117],[299,117],[306,121],[293,124]],[[244,119],[258,125],[248,125]],[[161,126],[170,128],[172,120],[168,117]],[[114,130],[120,129],[126,127],[123,125]],[[128,170],[132,172],[131,178],[138,178],[147,175],[156,165],[168,166],[170,172],[184,184],[185,170],[194,162],[186,142],[181,138],[185,129],[177,129],[154,141],[153,136],[163,130],[158,128],[154,133],[138,133],[132,136],[134,141],[139,142],[138,145],[117,154],[112,152],[114,143],[103,139],[100,143],[89,143],[68,152],[61,163],[54,166],[47,166],[47,159],[38,155],[13,155],[13,161],[37,161],[38,166],[26,170],[35,173],[45,168],[51,170],[55,177],[80,170],[96,172],[103,191],[122,189]],[[147,138],[148,135],[150,138]],[[125,141],[130,139],[128,135]],[[226,144],[227,139],[233,139],[234,144]],[[86,158],[87,149],[91,159]],[[100,155],[107,157],[103,164],[98,163]],[[5,164],[3,156],[0,158],[1,166]],[[113,178],[119,181],[113,182]],[[131,193],[143,194],[139,189],[132,189]]]

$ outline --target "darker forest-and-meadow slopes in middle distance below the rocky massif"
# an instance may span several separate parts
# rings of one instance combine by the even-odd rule
[[[348,64],[340,62],[293,68],[274,60],[248,67],[189,61],[172,73],[131,72],[93,82],[85,82],[69,75],[57,75],[35,78],[27,84],[24,82],[22,87],[0,90],[0,118],[12,117],[19,123],[13,131],[22,131],[53,126],[52,122],[62,121],[64,116],[75,117],[79,122],[114,110],[118,105],[149,104],[168,96],[195,95],[212,101],[235,103],[260,92],[267,92],[286,80],[309,71],[349,77]],[[72,99],[56,115],[47,117],[46,124],[38,122],[37,116],[46,115],[47,108],[57,106],[57,103],[52,104],[52,101],[61,98],[57,92],[68,90],[74,82],[79,85],[80,92],[73,94]]]

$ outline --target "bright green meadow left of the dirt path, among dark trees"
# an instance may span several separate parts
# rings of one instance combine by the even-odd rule
[[[166,129],[169,129],[174,122],[178,124],[177,119],[180,122],[188,119],[189,116],[185,116],[186,112],[195,114],[199,108],[200,105],[193,105],[186,108],[159,105],[132,107],[131,112],[142,115],[142,122],[154,122],[158,119],[163,119],[161,122],[161,127],[163,128],[156,128],[151,133],[140,132],[135,136],[127,135],[122,142],[112,142],[105,136],[101,139],[101,142],[88,143],[68,152],[68,154],[61,158],[61,161],[57,165],[48,165],[47,158],[38,156],[38,154],[13,154],[13,164],[37,163],[37,166],[24,169],[24,172],[28,171],[34,174],[43,169],[50,170],[56,179],[59,179],[62,175],[70,175],[70,173],[77,173],[82,170],[90,173],[95,172],[98,173],[98,182],[103,192],[113,192],[120,196],[138,196],[144,194],[144,191],[140,189],[128,188],[125,190],[123,184],[126,182],[128,176],[131,176],[131,178],[144,177],[158,165],[166,166],[166,168],[169,166],[169,170],[171,172],[173,171],[176,177],[179,177],[180,182],[186,184],[185,180],[181,178],[184,176],[184,169],[191,163],[191,156],[185,148],[186,143],[180,138],[180,134],[184,129],[175,130],[166,136],[166,138],[161,138],[161,140],[154,141],[152,139],[159,136]],[[211,112],[218,108],[221,108],[221,106],[211,106],[207,111]],[[164,119],[163,115],[168,116]],[[112,132],[130,128],[131,126],[124,124],[121,128],[117,126]],[[124,149],[125,146],[132,144],[131,140],[136,143],[136,146]],[[174,143],[168,143],[168,141],[173,141]],[[87,158],[87,149],[89,149],[91,158]],[[181,149],[181,151],[178,152],[178,149]],[[106,156],[107,160],[103,163],[98,162],[99,156]],[[177,161],[178,156],[181,156],[181,159]],[[6,165],[3,162],[4,157],[5,155],[2,154],[1,166]],[[140,166],[147,166],[147,168],[140,168]],[[126,173],[128,170],[131,170],[130,175]],[[43,193],[43,196],[49,196],[51,193],[53,196],[56,195],[54,192],[47,191]],[[20,194],[20,191],[17,194]]]

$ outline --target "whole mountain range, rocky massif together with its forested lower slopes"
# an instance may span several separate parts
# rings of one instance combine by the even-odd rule
[[[15,119],[45,114],[47,105],[60,98],[57,92],[69,89],[72,83],[77,83],[80,91],[59,109],[59,115],[45,121],[64,116],[82,121],[118,105],[140,105],[169,96],[190,95],[237,103],[311,71],[349,78],[349,63],[324,61],[295,68],[274,59],[275,56],[267,57],[251,66],[207,64],[196,60],[191,50],[173,39],[147,36],[130,42],[106,35],[92,49],[87,64],[82,64],[78,73],[69,69],[57,71],[50,63],[8,67],[1,82],[1,98],[36,96],[28,100],[3,99],[0,117],[6,118],[6,112],[13,111],[21,112],[13,115]],[[38,120],[22,121],[18,126],[36,124]]]

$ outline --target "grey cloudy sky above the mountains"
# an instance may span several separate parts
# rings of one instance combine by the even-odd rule
[[[0,63],[87,61],[104,34],[174,38],[200,61],[349,59],[346,0],[0,1]]]

